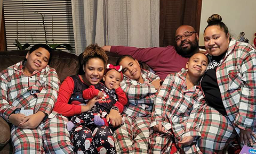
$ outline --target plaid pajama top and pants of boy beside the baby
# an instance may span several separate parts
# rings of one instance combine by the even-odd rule
[[[122,124],[114,132],[116,151],[118,153],[148,153],[150,116],[157,91],[151,82],[159,76],[141,70],[144,83],[127,78],[121,82],[121,88],[127,95]]]

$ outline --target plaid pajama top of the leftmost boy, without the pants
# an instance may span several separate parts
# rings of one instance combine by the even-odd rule
[[[20,109],[33,109],[34,113],[41,110],[49,115],[57,98],[60,81],[55,70],[47,65],[27,76],[23,73],[24,63],[18,62],[0,74],[1,114],[6,120]]]

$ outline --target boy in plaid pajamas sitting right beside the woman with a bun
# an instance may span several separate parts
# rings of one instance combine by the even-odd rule
[[[202,153],[196,142],[205,100],[198,81],[207,65],[207,56],[196,53],[186,64],[188,70],[167,75],[151,116],[149,153]]]

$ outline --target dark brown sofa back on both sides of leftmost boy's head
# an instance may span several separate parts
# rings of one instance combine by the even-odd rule
[[[0,52],[0,71],[22,61],[27,53],[28,50]],[[57,71],[61,82],[67,76],[77,74],[79,70],[79,61],[76,55],[57,50],[52,52],[52,61],[49,65]]]

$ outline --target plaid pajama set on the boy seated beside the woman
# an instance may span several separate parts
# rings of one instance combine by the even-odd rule
[[[187,70],[167,75],[156,97],[151,116],[149,153],[172,153],[172,143],[177,153],[202,153],[197,144],[201,138],[205,99],[199,85],[187,89]],[[161,124],[164,133],[155,132],[153,126]],[[185,136],[195,136],[192,146],[182,147],[178,141]]]

